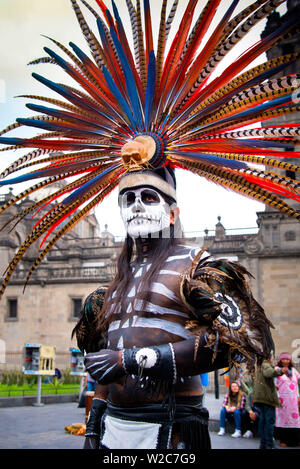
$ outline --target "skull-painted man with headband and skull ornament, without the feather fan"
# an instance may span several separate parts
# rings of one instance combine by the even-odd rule
[[[104,301],[98,290],[85,303],[92,336],[76,328],[82,348],[94,352],[85,364],[98,382],[87,448],[99,438],[110,449],[209,448],[199,374],[240,360],[253,366],[272,346],[245,269],[179,237],[174,171],[136,171],[148,143],[141,136],[122,150],[133,169],[119,184],[127,237],[118,272]]]

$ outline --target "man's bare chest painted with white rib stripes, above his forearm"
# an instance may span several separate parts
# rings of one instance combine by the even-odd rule
[[[109,346],[114,349],[160,345],[188,337],[185,323],[189,319],[180,297],[184,263],[166,262],[155,280],[145,284],[150,264],[133,267],[133,277],[122,302],[112,295]]]

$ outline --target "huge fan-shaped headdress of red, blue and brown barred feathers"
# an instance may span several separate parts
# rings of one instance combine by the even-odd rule
[[[299,18],[295,16],[283,23],[218,74],[219,65],[231,49],[283,0],[258,0],[237,14],[238,0],[207,0],[198,17],[199,2],[183,1],[181,6],[185,10],[180,13],[178,29],[169,43],[173,19],[179,14],[179,0],[170,4],[167,0],[152,2],[155,15],[160,8],[157,41],[152,28],[151,1],[144,0],[141,5],[140,0],[135,4],[126,0],[132,45],[114,0],[111,10],[103,0],[80,3],[71,0],[71,3],[90,55],[72,42],[65,47],[49,38],[55,50],[45,47],[47,56],[32,62],[57,65],[75,84],[71,87],[32,74],[56,92],[58,98],[25,96],[41,102],[27,104],[37,114],[17,119],[0,132],[0,143],[6,145],[1,151],[31,149],[3,171],[0,184],[33,181],[31,188],[7,202],[0,213],[53,182],[66,179],[67,184],[17,216],[34,214],[52,203],[8,266],[0,295],[18,262],[36,240],[42,239],[44,247],[27,281],[56,241],[100,203],[126,172],[137,168],[149,170],[166,165],[183,168],[300,218],[285,201],[286,198],[300,201],[299,183],[272,169],[265,170],[268,166],[300,172],[298,166],[284,161],[291,156],[299,157],[299,152],[290,152],[299,138],[299,124],[259,127],[261,121],[299,111],[299,104],[293,102],[298,77],[274,78],[299,53],[249,68],[274,44],[296,34]],[[94,32],[82,8],[95,18]],[[219,10],[223,16],[209,33]],[[256,123],[256,129],[243,130]],[[20,126],[45,132],[39,131],[32,138],[3,137]],[[154,151],[128,155],[124,151],[128,141],[141,136],[151,137]],[[53,154],[57,151],[60,153]],[[32,169],[34,165],[39,168]],[[24,173],[26,168],[30,170]],[[19,170],[21,175],[11,177]],[[36,179],[39,181],[34,183]]]

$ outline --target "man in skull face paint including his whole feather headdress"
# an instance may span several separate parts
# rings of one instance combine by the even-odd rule
[[[298,53],[249,68],[279,40],[298,34],[299,18],[292,15],[255,44],[245,41],[236,60],[227,55],[283,2],[258,0],[236,11],[238,0],[182,1],[185,10],[168,44],[179,1],[170,9],[167,0],[152,2],[151,15],[144,0],[142,15],[139,0],[126,0],[130,47],[116,2],[110,11],[104,0],[96,1],[97,10],[81,1],[96,21],[94,34],[71,0],[91,58],[73,42],[67,48],[49,38],[66,57],[45,47],[47,56],[31,63],[55,64],[75,87],[33,73],[59,99],[26,95],[42,102],[27,104],[38,114],[0,132],[1,151],[32,149],[1,173],[0,186],[34,181],[0,213],[42,187],[68,181],[9,220],[16,226],[54,203],[9,263],[0,297],[33,243],[41,239],[42,250],[25,284],[55,243],[119,183],[127,237],[118,272],[104,301],[102,290],[89,296],[75,330],[98,382],[87,446],[99,447],[100,438],[103,448],[209,447],[199,374],[241,361],[251,368],[270,353],[271,324],[252,297],[246,270],[197,253],[178,237],[173,171],[191,171],[300,219],[286,201],[300,201],[299,181],[273,172],[300,172],[283,161],[300,156],[298,124],[245,128],[299,111],[297,76],[275,78]],[[20,126],[39,130],[31,138],[4,136]]]

